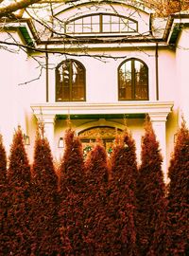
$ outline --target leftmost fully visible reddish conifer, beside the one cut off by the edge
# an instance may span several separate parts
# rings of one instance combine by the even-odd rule
[[[7,231],[8,255],[29,255],[31,251],[31,173],[21,127],[15,131],[9,155]]]

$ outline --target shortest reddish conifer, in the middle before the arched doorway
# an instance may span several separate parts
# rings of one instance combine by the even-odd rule
[[[85,161],[87,194],[85,198],[85,227],[89,255],[110,255],[107,186],[109,168],[106,150],[97,138]]]

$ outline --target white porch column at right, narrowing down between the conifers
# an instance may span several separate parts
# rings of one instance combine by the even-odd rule
[[[167,165],[166,165],[166,117],[167,114],[149,114],[154,132],[156,134],[157,140],[160,143],[161,154],[163,155],[163,174],[164,181],[167,181]]]

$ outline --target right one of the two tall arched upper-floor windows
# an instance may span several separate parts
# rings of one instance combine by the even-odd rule
[[[131,58],[119,65],[118,100],[148,100],[148,67],[144,62]]]

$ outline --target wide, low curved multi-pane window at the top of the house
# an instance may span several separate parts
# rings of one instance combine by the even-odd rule
[[[91,14],[65,23],[67,34],[93,33],[133,33],[138,31],[138,23],[116,14]]]

